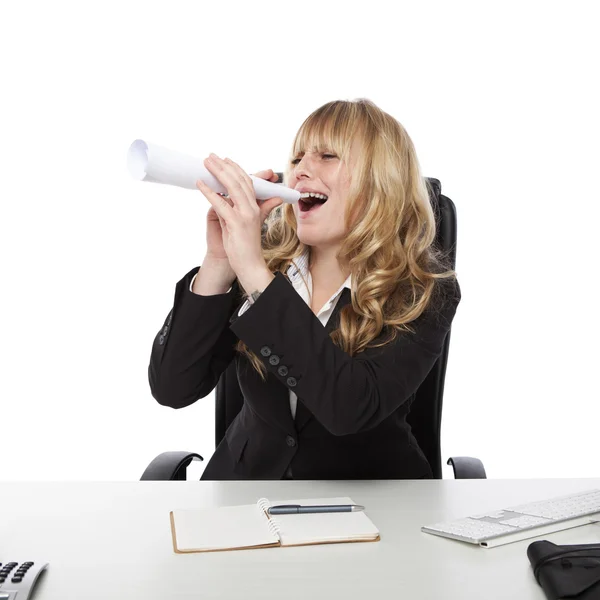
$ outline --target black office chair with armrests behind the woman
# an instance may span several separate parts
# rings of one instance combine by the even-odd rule
[[[279,173],[279,178],[280,181],[283,180],[281,173]],[[441,250],[449,252],[454,268],[456,263],[456,207],[450,198],[442,195],[442,186],[438,179],[427,178],[427,184],[437,222],[436,241]],[[407,417],[413,434],[429,461],[436,479],[442,479],[440,432],[449,347],[450,332],[444,341],[442,354],[417,390]],[[235,362],[232,362],[222,373],[216,387],[215,443],[217,446],[225,436],[225,431],[230,423],[241,410],[242,404],[243,396],[238,385]],[[193,452],[163,452],[148,465],[141,479],[149,481],[185,480],[186,468],[192,460],[203,460],[203,458]],[[453,457],[448,460],[447,464],[452,465],[456,479],[486,478],[483,464],[477,458]]]

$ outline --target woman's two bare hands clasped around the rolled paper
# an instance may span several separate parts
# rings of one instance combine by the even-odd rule
[[[237,275],[245,269],[264,265],[261,247],[261,226],[269,213],[282,204],[278,197],[265,200],[260,206],[250,177],[239,165],[214,154],[204,161],[204,166],[225,187],[229,198],[213,192],[204,182],[196,187],[211,203],[206,223],[207,256],[229,259]],[[260,171],[256,177],[277,181],[270,169]]]

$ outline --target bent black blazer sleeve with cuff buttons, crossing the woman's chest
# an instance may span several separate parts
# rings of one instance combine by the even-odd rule
[[[438,289],[436,308],[410,323],[414,334],[402,332],[394,342],[354,357],[333,343],[281,273],[233,320],[231,329],[330,433],[348,435],[389,417],[414,394],[440,356],[460,287],[453,280]]]

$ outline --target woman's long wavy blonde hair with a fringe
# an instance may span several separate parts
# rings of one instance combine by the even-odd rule
[[[359,152],[345,212],[348,233],[337,255],[342,269],[352,275],[352,301],[341,309],[339,326],[330,333],[350,356],[412,332],[409,323],[432,302],[436,280],[456,276],[448,257],[434,247],[434,213],[412,140],[370,100],[337,100],[315,110],[296,134],[284,183],[300,153],[333,153],[348,165],[353,144]],[[262,240],[271,272],[285,274],[294,259],[310,252],[298,239],[294,208],[288,203],[271,212]],[[384,330],[387,339],[373,344]],[[262,360],[242,340],[235,348],[266,381]]]

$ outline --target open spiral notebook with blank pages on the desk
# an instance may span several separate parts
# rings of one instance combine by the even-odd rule
[[[308,546],[344,542],[377,542],[379,531],[364,512],[269,515],[277,504],[354,504],[344,498],[277,500],[256,504],[173,510],[171,533],[177,553],[217,552]]]

